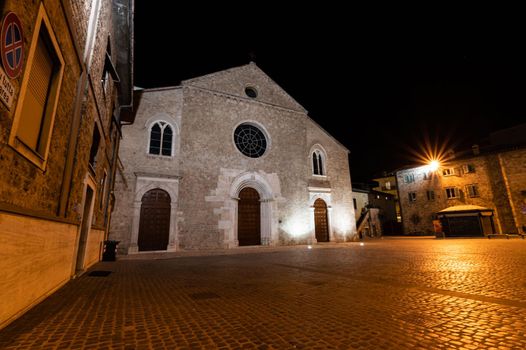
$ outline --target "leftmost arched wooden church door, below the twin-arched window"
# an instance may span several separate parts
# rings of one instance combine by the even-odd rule
[[[166,250],[170,236],[170,195],[153,189],[142,196],[139,251]]]

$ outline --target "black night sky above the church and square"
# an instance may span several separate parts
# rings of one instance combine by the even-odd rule
[[[526,122],[526,28],[508,17],[512,9],[401,16],[268,5],[205,14],[168,3],[136,1],[135,85],[177,85],[252,53],[351,151],[353,182],[414,163],[425,143],[459,150]]]

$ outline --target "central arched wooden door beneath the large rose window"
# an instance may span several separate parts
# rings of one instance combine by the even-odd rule
[[[261,244],[261,214],[259,193],[245,187],[239,192],[237,208],[237,239],[239,245]]]

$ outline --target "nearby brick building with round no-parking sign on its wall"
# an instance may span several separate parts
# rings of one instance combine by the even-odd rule
[[[133,121],[133,0],[0,11],[2,328],[101,258],[120,126]]]

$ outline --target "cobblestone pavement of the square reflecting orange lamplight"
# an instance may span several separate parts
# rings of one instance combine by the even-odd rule
[[[99,263],[108,276],[68,283],[0,348],[526,348],[526,240],[233,252]]]

